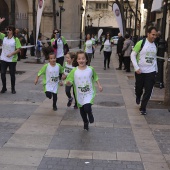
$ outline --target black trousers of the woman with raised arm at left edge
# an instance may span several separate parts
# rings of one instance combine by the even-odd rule
[[[15,72],[16,72],[16,62],[6,62],[1,60],[1,80],[3,89],[6,89],[6,71],[9,67],[9,72],[11,76],[11,88],[15,88]]]

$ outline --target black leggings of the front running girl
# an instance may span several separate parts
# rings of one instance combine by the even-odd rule
[[[92,114],[92,108],[91,108],[91,104],[87,103],[85,105],[83,105],[82,107],[80,107],[80,115],[83,119],[84,123],[93,123],[94,122],[94,117]],[[88,118],[87,118],[88,115]]]

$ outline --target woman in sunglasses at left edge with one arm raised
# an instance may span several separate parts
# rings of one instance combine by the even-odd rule
[[[0,24],[5,20],[5,18],[0,18]],[[6,88],[6,71],[9,67],[9,72],[11,76],[11,93],[15,94],[15,72],[16,64],[18,59],[18,53],[21,49],[21,43],[15,35],[15,27],[7,27],[7,36],[0,33],[0,39],[2,39],[2,53],[1,53],[1,80],[2,80],[2,90],[1,93],[7,91]]]

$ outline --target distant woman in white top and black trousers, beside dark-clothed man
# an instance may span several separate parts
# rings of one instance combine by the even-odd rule
[[[105,40],[103,41],[103,44],[100,48],[100,53],[102,49],[104,49],[104,70],[106,70],[106,62],[107,62],[107,68],[110,68],[110,56],[112,54],[112,46],[113,46],[113,41],[111,40],[110,34],[107,33],[105,36]]]

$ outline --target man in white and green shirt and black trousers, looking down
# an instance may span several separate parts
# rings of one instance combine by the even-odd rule
[[[150,27],[147,38],[140,40],[131,53],[131,60],[135,69],[135,92],[136,104],[140,104],[142,97],[140,113],[146,115],[146,106],[151,97],[152,89],[155,83],[157,72],[156,53],[157,48],[154,43],[157,35],[157,29]]]

